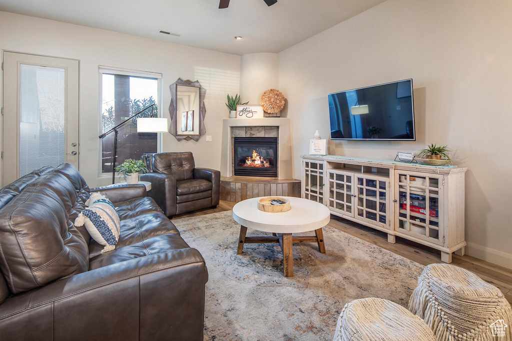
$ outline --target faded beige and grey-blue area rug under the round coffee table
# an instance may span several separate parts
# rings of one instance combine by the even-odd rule
[[[237,255],[240,225],[232,211],[173,222],[208,267],[205,340],[332,340],[347,302],[378,297],[407,307],[423,270],[326,226],[327,253],[316,243],[293,244],[294,276],[285,278],[279,244],[246,244]],[[247,231],[257,235],[270,234]]]

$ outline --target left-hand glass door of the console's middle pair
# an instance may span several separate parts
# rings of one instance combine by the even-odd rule
[[[333,211],[353,217],[353,173],[329,170],[327,177],[329,181],[329,208]]]

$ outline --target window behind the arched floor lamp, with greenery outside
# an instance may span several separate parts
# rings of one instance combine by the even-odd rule
[[[137,118],[161,117],[161,74],[99,68],[100,72],[100,134],[109,131],[142,109],[130,122],[118,128],[116,165],[129,158],[140,160],[142,154],[159,151],[158,133],[138,133]],[[114,133],[100,140],[101,173],[112,172]]]

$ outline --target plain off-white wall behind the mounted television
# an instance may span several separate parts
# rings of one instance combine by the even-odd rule
[[[466,172],[468,254],[512,268],[512,2],[388,0],[278,55],[293,122],[295,177],[327,94],[413,78],[416,142],[329,142],[337,155],[392,159],[449,144]]]

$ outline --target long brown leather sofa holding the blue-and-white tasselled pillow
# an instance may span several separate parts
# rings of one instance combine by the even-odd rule
[[[142,185],[93,189],[121,219],[116,249],[73,221],[90,190],[69,164],[0,190],[0,339],[203,340],[207,270]]]

